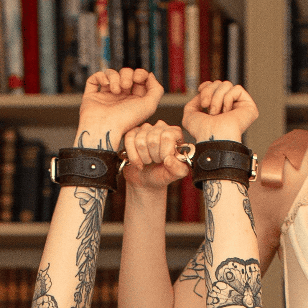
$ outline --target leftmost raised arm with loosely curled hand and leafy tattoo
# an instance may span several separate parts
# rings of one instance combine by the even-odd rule
[[[162,95],[154,75],[141,69],[95,73],[87,80],[73,147],[80,152],[107,150],[109,157],[125,132],[155,112]],[[79,155],[76,161],[81,154],[74,148],[70,152]],[[39,265],[32,307],[91,306],[107,189],[92,187],[79,175],[74,181],[82,184],[64,186],[67,183],[60,177],[63,187]]]

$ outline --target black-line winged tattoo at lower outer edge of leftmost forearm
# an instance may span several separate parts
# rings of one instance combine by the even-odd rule
[[[49,265],[50,264],[48,263],[47,268],[45,270],[39,270],[37,274],[31,308],[58,308],[55,298],[52,295],[47,294],[52,284],[47,273],[49,270]]]

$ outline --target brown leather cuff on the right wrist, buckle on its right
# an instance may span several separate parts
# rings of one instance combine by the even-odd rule
[[[195,145],[193,182],[202,189],[204,180],[234,180],[248,189],[257,176],[257,155],[245,145],[227,140],[205,141]]]

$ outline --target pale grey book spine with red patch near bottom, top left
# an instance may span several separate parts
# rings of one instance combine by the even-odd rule
[[[19,0],[3,0],[4,32],[8,85],[12,94],[23,94],[23,53],[21,4]]]

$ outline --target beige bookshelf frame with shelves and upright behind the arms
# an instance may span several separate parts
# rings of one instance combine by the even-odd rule
[[[216,0],[244,29],[244,85],[260,112],[259,119],[249,128],[245,140],[260,159],[270,143],[285,132],[286,107],[308,106],[307,94],[291,95],[286,92],[286,1]],[[188,95],[164,95],[159,110],[179,110],[190,98]],[[27,127],[72,128],[74,131],[81,95],[0,95],[0,102],[3,118],[14,119]],[[47,133],[48,136],[50,138]],[[36,267],[48,228],[49,224],[41,223],[0,224],[0,267]],[[203,228],[202,224],[192,224],[189,228],[181,223],[167,225],[167,257],[170,266],[185,265],[202,241]],[[99,266],[111,267],[119,263],[121,236],[122,225],[103,225]],[[188,237],[189,241],[186,241]],[[277,291],[273,287],[277,285],[277,280],[271,280],[272,277],[280,277],[280,274],[277,275],[279,265],[275,260],[264,280],[264,295],[267,298],[272,292],[270,287],[266,288],[266,281],[280,297],[281,286],[278,286]],[[268,299],[266,306],[279,308],[282,307],[282,301],[279,298]]]

